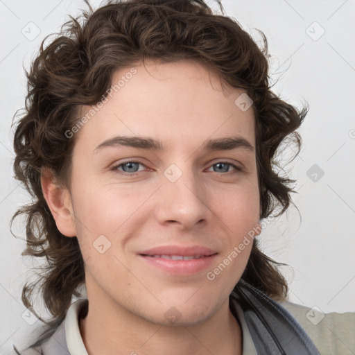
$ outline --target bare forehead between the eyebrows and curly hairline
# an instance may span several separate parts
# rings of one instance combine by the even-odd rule
[[[93,150],[114,135],[186,145],[209,136],[242,135],[253,144],[254,114],[252,107],[243,111],[236,105],[241,94],[195,61],[137,63],[114,73],[110,95],[99,109],[83,107],[80,116],[86,115],[87,123],[78,132],[77,144]]]

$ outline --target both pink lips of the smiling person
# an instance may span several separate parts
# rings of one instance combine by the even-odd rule
[[[195,245],[191,247],[180,247],[178,245],[160,246],[138,253],[139,259],[150,266],[168,272],[172,275],[187,276],[193,275],[208,267],[211,267],[217,257],[218,252],[209,248]],[[199,259],[172,260],[161,257],[151,257],[149,255],[203,255]]]

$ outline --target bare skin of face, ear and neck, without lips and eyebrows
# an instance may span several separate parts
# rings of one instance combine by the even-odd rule
[[[200,146],[239,136],[255,147],[252,108],[240,110],[234,101],[243,91],[223,91],[218,76],[197,62],[135,68],[77,133],[70,188],[58,187],[49,170],[42,173],[58,229],[77,236],[85,260],[89,311],[80,334],[90,355],[241,354],[241,327],[228,297],[252,243],[214,280],[206,274],[260,227],[256,159],[244,148],[209,152]],[[129,70],[114,73],[112,83]],[[82,107],[82,116],[89,108]],[[160,139],[165,149],[112,146],[94,153],[116,135]],[[110,170],[137,159],[143,165]],[[227,165],[221,172],[215,164],[225,161],[243,170]],[[175,182],[164,175],[171,164],[182,172]],[[103,254],[93,245],[100,235],[111,243]],[[218,255],[206,270],[171,275],[137,257],[158,245],[204,245]],[[164,316],[171,307],[180,315],[173,325]]]

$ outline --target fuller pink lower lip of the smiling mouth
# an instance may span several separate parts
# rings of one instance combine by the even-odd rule
[[[172,260],[159,257],[148,257],[140,254],[138,256],[146,261],[146,263],[153,265],[160,270],[170,272],[171,274],[193,275],[211,266],[211,263],[214,262],[217,254],[191,260]]]

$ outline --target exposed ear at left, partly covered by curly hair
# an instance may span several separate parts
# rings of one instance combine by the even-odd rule
[[[41,170],[41,186],[60,233],[64,236],[76,236],[75,216],[69,190],[58,185],[53,171],[49,168]]]

